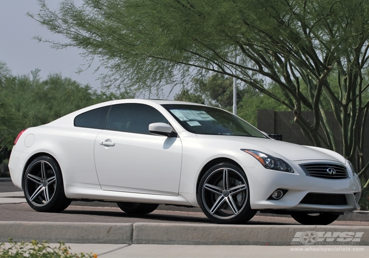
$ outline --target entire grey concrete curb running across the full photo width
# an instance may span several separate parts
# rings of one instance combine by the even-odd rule
[[[307,231],[319,237],[337,233],[333,240],[317,244],[369,245],[369,227],[299,226],[299,225],[207,225],[172,223],[55,223],[0,222],[0,242],[64,241],[66,243],[96,244],[165,244],[165,245],[301,245],[300,238]],[[362,232],[356,242],[355,233]],[[338,236],[338,234],[342,234]],[[344,235],[346,234],[346,235]],[[295,240],[293,240],[295,237]],[[325,237],[328,237],[325,235]],[[341,237],[338,240],[337,237]],[[345,237],[345,238],[343,238]],[[296,240],[297,239],[297,240]],[[292,243],[292,241],[297,241]],[[325,242],[330,241],[330,242]],[[338,241],[338,242],[334,242]]]

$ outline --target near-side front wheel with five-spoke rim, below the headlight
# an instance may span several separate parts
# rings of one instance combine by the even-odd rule
[[[220,163],[201,178],[197,202],[205,215],[215,223],[240,224],[250,220],[256,213],[250,207],[249,196],[245,172],[233,164]]]

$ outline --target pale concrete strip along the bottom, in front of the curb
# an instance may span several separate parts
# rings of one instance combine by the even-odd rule
[[[369,252],[368,246],[66,245],[71,253],[92,253],[98,258],[367,258]]]

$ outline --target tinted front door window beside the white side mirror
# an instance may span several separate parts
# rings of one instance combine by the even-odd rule
[[[106,129],[150,134],[149,124],[157,122],[168,123],[153,107],[144,104],[118,104],[110,109]]]

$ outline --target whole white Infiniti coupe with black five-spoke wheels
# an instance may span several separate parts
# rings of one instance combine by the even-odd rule
[[[360,209],[359,178],[338,153],[276,141],[229,112],[180,101],[114,100],[23,130],[9,170],[41,212],[89,199],[131,214],[201,207],[222,224],[260,210],[327,225]]]

